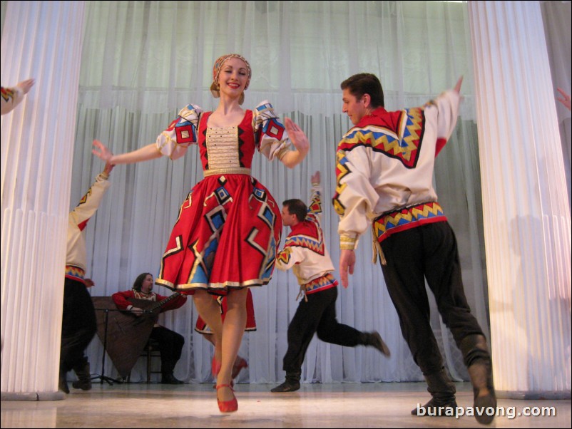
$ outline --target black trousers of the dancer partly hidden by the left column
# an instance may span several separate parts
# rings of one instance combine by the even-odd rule
[[[96,311],[86,285],[66,279],[63,286],[60,371],[85,366],[83,352],[96,334]]]

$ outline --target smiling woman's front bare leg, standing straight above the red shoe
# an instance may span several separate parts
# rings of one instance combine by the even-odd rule
[[[246,327],[246,296],[248,290],[238,289],[228,293],[227,312],[225,323],[223,324],[222,351],[223,360],[218,373],[217,385],[230,384],[233,365],[242,342],[242,335]],[[220,318],[219,318],[220,319]],[[209,323],[206,319],[205,321]],[[218,390],[220,400],[232,400],[233,392],[230,388],[220,388]]]

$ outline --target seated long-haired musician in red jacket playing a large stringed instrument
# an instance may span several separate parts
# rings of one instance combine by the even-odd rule
[[[155,294],[153,290],[153,275],[150,273],[143,273],[137,276],[135,283],[133,283],[133,289],[131,291],[116,292],[111,297],[113,302],[120,310],[131,311],[136,316],[141,316],[143,314],[143,309],[133,306],[133,303],[129,299],[146,299],[148,301],[163,301],[167,299],[168,296],[162,296]],[[165,303],[161,307],[160,312],[168,310],[178,309],[187,302],[186,295],[180,295],[177,298]],[[159,343],[159,351],[161,355],[161,383],[163,384],[181,384],[183,381],[178,380],[173,376],[173,370],[175,365],[180,358],[180,353],[183,350],[183,344],[185,343],[185,338],[182,335],[177,334],[170,329],[165,328],[165,326],[160,326],[155,323],[153,326],[153,331],[149,338],[153,338]]]

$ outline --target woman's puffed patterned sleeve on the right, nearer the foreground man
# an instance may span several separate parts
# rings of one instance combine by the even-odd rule
[[[252,115],[252,128],[254,128],[256,147],[272,161],[279,160],[290,150],[290,138],[267,100],[256,106]]]

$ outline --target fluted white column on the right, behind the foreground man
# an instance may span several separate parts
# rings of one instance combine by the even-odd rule
[[[569,398],[571,222],[540,4],[471,1],[469,11],[486,124],[479,148],[495,387]]]

